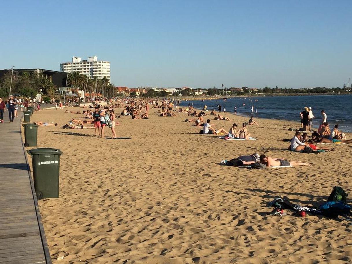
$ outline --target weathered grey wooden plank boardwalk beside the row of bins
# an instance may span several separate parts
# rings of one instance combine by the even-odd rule
[[[51,264],[21,139],[21,117],[8,120],[6,111],[0,123],[0,264]]]

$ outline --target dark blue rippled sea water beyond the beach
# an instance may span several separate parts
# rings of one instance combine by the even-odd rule
[[[255,101],[258,100],[258,101]],[[305,96],[264,96],[264,97],[237,97],[226,101],[218,100],[194,100],[181,101],[182,107],[193,103],[195,108],[201,109],[208,106],[209,111],[220,104],[226,108],[226,112],[233,113],[234,106],[237,114],[268,119],[282,119],[290,121],[301,121],[300,112],[304,107],[312,107],[315,119],[313,127],[318,127],[321,122],[321,110],[327,114],[330,127],[339,124],[339,130],[352,132],[352,94],[349,95],[305,95]],[[245,103],[245,106],[243,106]],[[251,106],[254,105],[254,113],[251,114]],[[255,111],[257,110],[257,113]]]

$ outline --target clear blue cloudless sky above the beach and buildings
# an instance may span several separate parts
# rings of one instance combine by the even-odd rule
[[[342,87],[352,1],[4,1],[0,69],[110,61],[116,86]]]

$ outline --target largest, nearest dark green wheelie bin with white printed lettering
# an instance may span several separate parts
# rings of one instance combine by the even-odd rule
[[[63,154],[59,149],[42,147],[27,150],[32,156],[34,189],[37,199],[59,197],[59,171],[60,156]]]

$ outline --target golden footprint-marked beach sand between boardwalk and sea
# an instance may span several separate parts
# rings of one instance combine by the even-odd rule
[[[351,144],[334,145],[335,152],[295,153],[281,139],[292,138],[288,128],[299,128],[298,122],[256,119],[259,125],[248,128],[257,140],[226,141],[198,134],[202,127],[184,122],[186,113],[156,112],[150,109],[148,120],[118,119],[120,139],[60,128],[83,114],[34,113],[31,121],[58,123],[38,128],[38,147],[64,153],[60,197],[39,201],[53,263],[351,263],[351,222],[299,218],[289,210],[271,216],[266,207],[278,196],[319,206],[334,186],[350,194],[350,203]],[[225,116],[232,121],[211,124],[228,131],[234,122],[248,121]],[[108,127],[105,133],[111,136]],[[249,170],[219,164],[254,152],[312,166]]]

